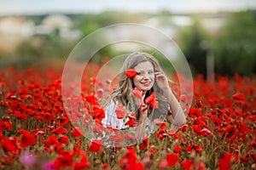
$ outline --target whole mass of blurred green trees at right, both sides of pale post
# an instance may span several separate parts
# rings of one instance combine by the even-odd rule
[[[211,35],[198,16],[180,34],[179,46],[192,71],[207,75],[207,55],[214,56],[214,70],[220,75],[256,73],[256,12],[228,14],[224,26]]]

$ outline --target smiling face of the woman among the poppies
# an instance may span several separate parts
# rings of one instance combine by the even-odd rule
[[[137,71],[137,76],[132,79],[134,85],[146,93],[154,85],[154,66],[149,61],[145,61],[136,65],[134,70]]]

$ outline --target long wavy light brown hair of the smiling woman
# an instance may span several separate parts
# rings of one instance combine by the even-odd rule
[[[125,59],[124,65],[121,68],[121,71],[119,72],[118,83],[113,88],[113,92],[110,94],[110,98],[108,100],[108,102],[112,100],[115,104],[118,103],[119,105],[124,105],[130,110],[132,109],[131,107],[133,107],[133,110],[136,111],[137,119],[139,118],[138,108],[136,105],[131,105],[135,102],[132,101],[133,99],[130,97],[131,90],[134,89],[135,86],[132,79],[125,76],[125,71],[128,69],[134,69],[135,66],[146,61],[149,61],[154,66],[154,71],[162,71],[158,61],[148,53],[136,52],[128,55],[128,57]],[[169,102],[166,95],[157,86],[155,81],[156,80],[154,79],[153,87],[145,94],[145,99],[147,99],[147,97],[154,92],[157,100],[159,101],[158,109],[154,109],[154,111],[151,107],[148,109],[148,115],[153,119],[160,118],[160,116],[166,117],[170,111],[170,105],[168,104]]]

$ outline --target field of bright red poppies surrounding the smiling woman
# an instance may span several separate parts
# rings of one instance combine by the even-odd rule
[[[86,122],[101,122],[104,108],[94,92],[100,65],[89,64],[82,81]],[[256,169],[256,77],[194,77],[187,122],[172,133],[165,123],[142,143],[108,148],[87,139],[70,122],[61,97],[61,69],[38,67],[0,70],[1,169]],[[176,80],[174,80],[176,82]],[[182,105],[188,96],[174,94]],[[103,133],[104,128],[93,128]],[[113,136],[129,140],[132,136]]]

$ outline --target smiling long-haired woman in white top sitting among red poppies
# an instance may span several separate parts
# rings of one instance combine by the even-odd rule
[[[130,71],[130,72],[129,72]],[[131,92],[137,89],[141,98],[132,98]],[[154,94],[154,95],[153,95]],[[149,96],[156,100],[152,105],[146,105]],[[119,118],[116,109],[124,106],[125,112],[134,111],[137,117],[135,137],[142,139],[154,129],[155,119],[164,118],[172,125],[179,127],[186,121],[186,116],[169,87],[168,79],[160,68],[158,61],[150,54],[136,52],[130,54],[119,73],[119,81],[107,102],[105,118],[102,124],[105,127],[124,129],[129,127],[127,117]]]

